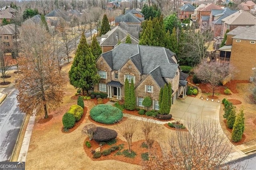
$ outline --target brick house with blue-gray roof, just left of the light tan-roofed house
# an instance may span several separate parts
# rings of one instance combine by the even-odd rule
[[[212,10],[210,14],[209,26],[214,33],[215,37],[221,36],[220,32],[222,29],[222,19],[234,14],[237,10],[230,10],[229,8],[224,8],[223,10]]]

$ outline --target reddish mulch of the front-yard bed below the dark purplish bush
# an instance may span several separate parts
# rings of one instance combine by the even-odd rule
[[[117,142],[115,144],[112,144],[111,146],[124,144],[124,149],[120,150],[120,152],[122,152],[123,150],[128,149],[128,144],[127,144],[126,141],[123,141],[119,138],[116,138],[116,139],[117,139]],[[114,152],[111,152],[111,154],[109,154],[107,156],[102,155],[100,158],[92,158],[92,156],[93,156],[93,154],[91,153],[92,150],[95,150],[96,148],[101,147],[100,152],[102,152],[103,150],[108,149],[111,146],[108,145],[108,144],[104,144],[103,146],[99,146],[98,142],[96,142],[94,140],[91,140],[89,142],[92,145],[92,147],[87,148],[87,146],[85,145],[86,140],[89,141],[89,139],[86,138],[84,140],[84,144],[83,144],[84,145],[84,152],[87,154],[87,156],[90,157],[91,160],[96,160],[96,161],[98,161],[98,160],[119,160],[119,161],[127,162],[127,163],[130,163],[130,164],[141,165],[141,162],[142,162],[141,154],[148,152],[147,148],[142,148],[141,147],[141,144],[144,142],[144,140],[139,140],[137,142],[132,142],[132,150],[134,152],[136,152],[135,158],[128,158],[128,157],[125,157],[124,155],[115,155],[116,152],[118,152],[118,150],[116,150]],[[154,142],[153,148],[152,148],[152,154],[157,154],[157,155],[160,155],[160,156],[162,155],[162,150],[161,150],[160,145],[158,144],[158,142]],[[120,168],[120,169],[122,169],[122,168]]]

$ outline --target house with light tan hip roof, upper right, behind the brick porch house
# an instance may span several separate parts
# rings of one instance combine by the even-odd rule
[[[231,31],[238,26],[254,26],[256,24],[256,17],[248,12],[239,10],[238,12],[235,12],[234,14],[222,19],[221,21],[222,29],[220,35],[224,36],[227,29]]]

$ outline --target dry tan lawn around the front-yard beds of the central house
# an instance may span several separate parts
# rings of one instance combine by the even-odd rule
[[[63,71],[67,72],[70,69],[71,63],[63,67]],[[81,130],[84,125],[91,123],[88,120],[90,109],[94,106],[92,101],[84,101],[85,106],[88,108],[88,112],[82,124],[73,132],[62,132],[62,116],[72,104],[76,103],[76,99],[71,97],[76,93],[76,89],[71,85],[66,86],[66,94],[64,96],[64,102],[60,107],[51,111],[49,114],[53,115],[52,119],[44,124],[38,123],[43,117],[37,116],[32,136],[30,140],[30,146],[26,157],[26,169],[94,169],[94,170],[137,170],[141,169],[139,165],[129,164],[118,160],[101,160],[95,161],[89,158],[84,152],[84,140],[86,136],[82,135]],[[138,121],[139,122],[139,121]],[[100,125],[97,125],[100,126]],[[114,129],[118,132],[118,126],[113,125],[107,128]],[[138,123],[138,130],[135,132],[133,141],[143,140],[141,133],[141,127]],[[159,136],[157,142],[159,142],[165,149],[168,149],[168,137],[171,133],[175,132],[163,125],[158,125]],[[118,134],[118,138],[125,139]],[[126,148],[127,149],[127,148]],[[137,155],[140,156],[140,155]],[[132,159],[132,158],[131,158]]]

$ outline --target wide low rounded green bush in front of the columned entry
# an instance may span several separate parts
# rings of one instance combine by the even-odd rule
[[[90,117],[99,123],[114,124],[120,121],[123,113],[117,107],[110,105],[96,105],[90,111]]]

